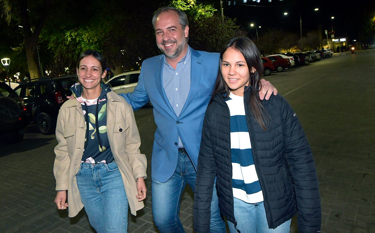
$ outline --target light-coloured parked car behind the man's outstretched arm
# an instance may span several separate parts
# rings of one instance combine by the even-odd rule
[[[138,77],[140,73],[141,71],[137,70],[137,71],[130,71],[130,72],[118,74],[112,77],[110,80],[108,80],[105,83],[108,83],[115,93],[126,94],[128,92],[134,91],[134,88],[138,84]],[[151,102],[148,102],[147,106],[152,107]]]

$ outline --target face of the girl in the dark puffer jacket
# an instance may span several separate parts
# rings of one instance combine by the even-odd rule
[[[254,68],[252,72],[255,72]],[[221,74],[231,92],[243,96],[245,86],[249,86],[250,73],[242,53],[233,47],[226,49],[221,62]]]

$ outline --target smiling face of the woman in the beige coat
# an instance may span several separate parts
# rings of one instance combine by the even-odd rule
[[[84,89],[100,91],[100,81],[106,73],[107,70],[103,72],[100,62],[91,55],[83,58],[77,68],[78,80]]]

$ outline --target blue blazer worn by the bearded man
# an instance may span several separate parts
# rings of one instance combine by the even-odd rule
[[[163,56],[144,60],[134,91],[120,95],[134,110],[141,108],[148,100],[151,101],[157,126],[151,177],[164,183],[172,177],[177,166],[178,135],[196,169],[204,114],[219,68],[219,53],[191,49],[190,92],[178,117],[163,88]]]

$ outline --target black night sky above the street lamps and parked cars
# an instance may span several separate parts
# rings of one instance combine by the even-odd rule
[[[215,8],[218,8],[216,1]],[[252,6],[253,5],[253,6]],[[315,8],[319,8],[317,12]],[[261,0],[260,3],[248,0],[248,3],[236,1],[236,5],[228,6],[228,1],[223,1],[224,15],[230,18],[237,18],[237,23],[242,24],[249,36],[255,36],[255,29],[249,24],[254,23],[262,28],[258,28],[258,33],[269,28],[283,28],[300,34],[300,16],[302,13],[302,35],[306,35],[310,30],[318,30],[318,25],[322,25],[322,31],[331,30],[331,16],[333,19],[333,29],[335,36],[348,36],[350,39],[357,39],[360,25],[365,19],[364,15],[369,12],[375,13],[375,1],[342,1],[342,0]],[[283,13],[288,12],[285,16]]]

